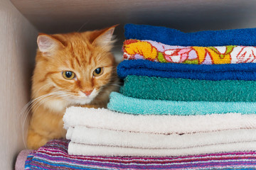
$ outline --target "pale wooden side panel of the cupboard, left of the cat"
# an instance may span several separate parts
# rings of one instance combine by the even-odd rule
[[[0,169],[14,169],[24,148],[19,113],[29,100],[36,35],[9,0],[0,0]]]

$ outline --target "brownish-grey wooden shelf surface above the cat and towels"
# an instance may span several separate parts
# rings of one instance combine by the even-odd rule
[[[92,30],[120,23],[168,26],[186,32],[256,27],[255,0],[11,0],[39,31]]]

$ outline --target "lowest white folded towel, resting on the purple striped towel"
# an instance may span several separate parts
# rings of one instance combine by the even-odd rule
[[[251,151],[255,150],[255,148],[256,142],[240,142],[178,149],[138,149],[132,147],[82,145],[75,142],[70,142],[68,145],[68,154],[114,157],[172,157],[217,152]]]

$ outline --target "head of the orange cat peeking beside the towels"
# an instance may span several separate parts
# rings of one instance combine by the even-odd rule
[[[47,96],[43,104],[53,110],[107,101],[110,86],[117,80],[110,52],[114,28],[38,35],[33,98]]]

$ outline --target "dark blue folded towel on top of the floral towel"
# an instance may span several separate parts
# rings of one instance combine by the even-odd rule
[[[235,30],[204,30],[196,33],[183,33],[159,26],[126,24],[126,39],[154,40],[166,45],[181,46],[225,46],[245,45],[256,46],[256,28]]]

